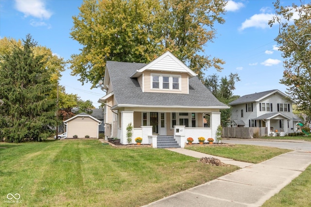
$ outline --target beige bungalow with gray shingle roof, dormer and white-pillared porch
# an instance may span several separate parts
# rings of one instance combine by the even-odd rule
[[[184,147],[188,137],[216,140],[220,109],[229,108],[170,52],[149,64],[107,61],[103,88],[106,95],[98,102],[105,106],[105,139],[121,143],[127,143],[129,123],[133,143],[141,137],[154,148]],[[176,144],[165,144],[169,140]]]

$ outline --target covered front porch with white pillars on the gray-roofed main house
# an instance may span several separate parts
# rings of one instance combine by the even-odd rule
[[[185,147],[188,137],[192,137],[194,143],[198,143],[197,138],[201,136],[216,140],[216,130],[220,125],[219,111],[203,112],[202,109],[190,109],[191,111],[171,109],[170,112],[166,112],[167,109],[144,110],[119,110],[116,137],[121,139],[121,143],[127,143],[126,127],[130,123],[134,126],[133,143],[135,143],[136,137],[141,137],[142,144],[152,144],[154,148],[157,148],[158,138],[163,136],[173,136],[180,147]]]

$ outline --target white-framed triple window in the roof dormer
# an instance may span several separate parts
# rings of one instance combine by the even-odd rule
[[[180,90],[181,76],[151,74],[151,89]]]

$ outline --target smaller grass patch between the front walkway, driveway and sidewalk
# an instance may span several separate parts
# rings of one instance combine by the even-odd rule
[[[243,162],[259,163],[271,159],[283,153],[291,152],[289,149],[276,147],[235,144],[229,146],[213,144],[213,146],[189,146],[187,149],[223,158],[234,159]]]

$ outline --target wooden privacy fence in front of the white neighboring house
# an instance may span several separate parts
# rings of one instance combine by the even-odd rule
[[[267,127],[223,127],[222,137],[250,139],[251,137],[265,137],[268,135]]]

